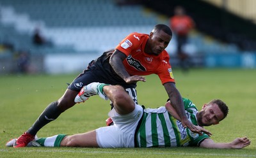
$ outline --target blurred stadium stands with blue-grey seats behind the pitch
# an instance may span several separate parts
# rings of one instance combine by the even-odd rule
[[[195,68],[256,68],[254,0],[0,0],[0,75],[74,73],[127,34],[169,25],[175,6],[196,23],[184,47]],[[38,29],[47,42],[33,43]],[[176,38],[166,48],[173,68]],[[22,69],[25,64],[29,69]],[[28,64],[28,65],[26,65]]]

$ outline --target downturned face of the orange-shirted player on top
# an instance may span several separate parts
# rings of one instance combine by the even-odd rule
[[[148,39],[148,54],[159,55],[168,46],[172,36],[166,34],[164,31],[151,32]]]

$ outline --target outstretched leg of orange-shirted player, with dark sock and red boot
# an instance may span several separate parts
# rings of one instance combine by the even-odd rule
[[[71,108],[76,104],[74,102],[74,99],[78,92],[81,90],[83,85],[88,85],[88,83],[93,82],[93,80],[96,80],[94,76],[92,76],[92,72],[85,70],[83,73],[81,73],[75,80],[68,85],[68,89],[66,90],[65,94],[63,94],[58,101],[54,101],[50,103],[47,108],[41,113],[41,115],[38,117],[38,119],[35,121],[33,126],[31,126],[28,131],[26,131],[24,134],[22,134],[16,141],[15,145],[13,147],[26,147],[28,145],[29,141],[33,140],[35,138],[36,133],[44,127],[46,124],[51,122],[52,120],[55,120],[60,116],[60,114],[67,110],[68,108]]]

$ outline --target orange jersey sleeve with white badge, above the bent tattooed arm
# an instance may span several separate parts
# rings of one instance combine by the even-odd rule
[[[141,34],[137,32],[129,34],[116,46],[116,49],[128,56],[132,50],[136,50],[143,42],[143,39],[139,38],[140,36]]]

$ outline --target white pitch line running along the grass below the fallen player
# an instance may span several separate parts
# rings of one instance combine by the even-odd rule
[[[13,152],[14,150],[0,149],[0,152]],[[15,150],[15,152],[35,152],[35,150]],[[61,152],[61,153],[92,153],[92,154],[147,154],[148,152],[104,152],[104,151],[84,151],[84,150],[36,150],[36,152]],[[203,154],[203,153],[161,153],[154,152],[153,155],[201,155],[201,156],[228,156],[228,157],[256,157],[256,155],[249,154]]]

